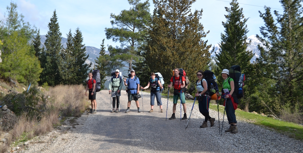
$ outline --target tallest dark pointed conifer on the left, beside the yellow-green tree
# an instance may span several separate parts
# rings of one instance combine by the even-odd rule
[[[62,50],[61,45],[62,34],[59,29],[58,18],[56,10],[52,15],[51,21],[48,23],[48,32],[45,40],[45,50],[41,61],[43,71],[40,76],[40,84],[47,82],[50,86],[60,84],[59,64],[60,64],[60,52]]]

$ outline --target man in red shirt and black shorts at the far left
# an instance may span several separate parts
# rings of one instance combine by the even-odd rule
[[[93,74],[92,72],[88,73],[88,80],[86,81],[86,90],[85,90],[85,96],[87,96],[87,90],[88,90],[88,99],[91,100],[91,110],[90,113],[96,114],[97,111],[97,102],[96,102],[96,80],[92,78]]]

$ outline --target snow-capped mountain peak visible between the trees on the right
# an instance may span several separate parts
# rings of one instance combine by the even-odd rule
[[[247,42],[251,41],[251,44],[247,47],[246,50],[252,51],[252,53],[254,54],[254,56],[250,60],[250,62],[253,62],[260,55],[260,51],[258,50],[258,45],[261,45],[261,47],[263,47],[263,48],[265,48],[265,46],[262,45],[262,43],[258,40],[258,38],[255,35],[249,36],[246,41]],[[215,50],[213,53],[211,53],[211,57],[214,57],[215,54],[218,54],[219,49],[220,49],[219,44],[215,44],[212,48],[209,49],[209,52],[211,52],[211,50],[213,48],[215,48]]]

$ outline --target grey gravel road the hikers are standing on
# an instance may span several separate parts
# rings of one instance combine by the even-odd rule
[[[100,94],[101,93],[101,94]],[[141,93],[141,92],[140,92]],[[228,128],[225,115],[223,135],[219,135],[218,112],[210,110],[210,116],[216,119],[215,126],[200,128],[204,117],[195,103],[188,128],[188,120],[180,121],[180,101],[176,118],[169,120],[172,114],[172,101],[168,101],[167,121],[165,121],[167,98],[162,97],[164,113],[159,113],[155,105],[150,110],[150,94],[143,92],[139,99],[141,113],[137,112],[135,101],[129,113],[127,95],[122,91],[120,113],[110,113],[111,101],[107,90],[97,93],[97,114],[84,113],[77,119],[79,125],[67,128],[65,132],[55,130],[47,135],[26,142],[22,152],[303,152],[303,143],[285,135],[238,121],[238,133],[224,132]],[[197,102],[197,101],[196,101]],[[189,117],[192,102],[187,104]],[[183,108],[182,108],[183,117]],[[220,127],[222,127],[220,114]]]

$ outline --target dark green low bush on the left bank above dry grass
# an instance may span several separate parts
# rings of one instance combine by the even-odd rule
[[[16,115],[27,113],[31,117],[40,118],[46,110],[47,97],[39,89],[32,87],[28,92],[10,92],[2,101]]]

